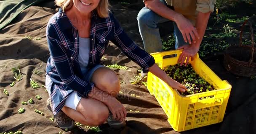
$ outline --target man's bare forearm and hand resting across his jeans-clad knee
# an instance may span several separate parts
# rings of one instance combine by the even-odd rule
[[[179,30],[181,31],[185,42],[189,42],[189,44],[192,44],[192,42],[196,41],[199,38],[196,29],[187,18],[185,18],[180,13],[171,10],[170,8],[168,8],[168,6],[160,2],[160,0],[144,0],[144,3],[145,6],[153,12],[164,18],[167,18],[170,21],[174,21],[177,24]],[[189,34],[192,37],[192,41]]]

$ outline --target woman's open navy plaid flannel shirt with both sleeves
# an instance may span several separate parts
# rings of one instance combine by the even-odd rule
[[[61,8],[50,18],[46,36],[51,54],[46,65],[46,75],[53,81],[49,94],[55,115],[61,110],[65,99],[73,91],[86,98],[94,84],[83,79],[77,59],[79,53],[78,30]],[[109,13],[107,18],[100,18],[93,11],[90,39],[88,68],[101,64],[100,59],[104,55],[109,41],[112,41],[128,58],[141,66],[144,72],[148,72],[149,67],[155,64],[155,59],[128,37],[112,13]]]

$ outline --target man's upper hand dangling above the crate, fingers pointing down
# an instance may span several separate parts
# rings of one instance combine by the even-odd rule
[[[192,25],[192,23],[185,18],[183,15],[178,15],[178,17],[175,19],[175,22],[179,28],[179,31],[181,31],[182,36],[184,38],[184,41],[189,44],[196,43],[198,39],[200,39],[199,34],[197,33],[197,29]],[[192,41],[190,39],[190,36],[192,38]]]

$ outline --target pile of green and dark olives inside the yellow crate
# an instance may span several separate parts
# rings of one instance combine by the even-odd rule
[[[180,66],[180,64],[170,65],[163,70],[169,77],[181,83],[188,89],[184,93],[179,92],[181,95],[191,95],[215,89],[213,85],[195,72],[190,63],[187,64],[187,66]]]

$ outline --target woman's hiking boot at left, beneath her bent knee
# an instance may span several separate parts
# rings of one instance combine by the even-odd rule
[[[51,99],[48,98],[47,99],[47,103],[46,103],[47,108],[53,112],[51,110],[52,106],[51,106]],[[54,123],[59,126],[59,128],[61,129],[72,129],[75,124],[74,121],[72,121],[72,119],[69,118],[69,116],[67,116],[63,111],[59,111],[55,116],[53,116],[54,119]]]

